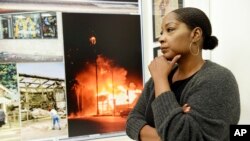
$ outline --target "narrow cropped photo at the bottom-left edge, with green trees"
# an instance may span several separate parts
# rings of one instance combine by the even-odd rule
[[[0,64],[0,139],[20,140],[20,95],[16,64]]]

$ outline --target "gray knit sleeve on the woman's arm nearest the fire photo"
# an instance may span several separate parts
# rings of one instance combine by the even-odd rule
[[[149,80],[142,91],[140,98],[138,99],[135,107],[129,113],[127,123],[126,123],[126,133],[127,135],[134,140],[140,140],[140,130],[147,124],[145,120],[145,111],[147,106],[147,95],[150,93],[150,83],[152,80]]]

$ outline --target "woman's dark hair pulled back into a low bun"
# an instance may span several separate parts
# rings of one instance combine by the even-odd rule
[[[184,7],[172,11],[177,20],[185,23],[191,30],[200,27],[203,32],[203,49],[212,50],[218,45],[218,39],[211,36],[212,27],[207,15],[197,8]]]

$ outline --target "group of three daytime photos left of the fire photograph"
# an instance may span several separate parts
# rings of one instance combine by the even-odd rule
[[[61,14],[58,13],[5,10],[0,14],[0,138],[3,141],[68,138],[63,40],[58,37]]]

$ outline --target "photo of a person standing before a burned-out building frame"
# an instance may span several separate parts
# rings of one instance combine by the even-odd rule
[[[68,137],[63,63],[17,65],[21,139]]]

